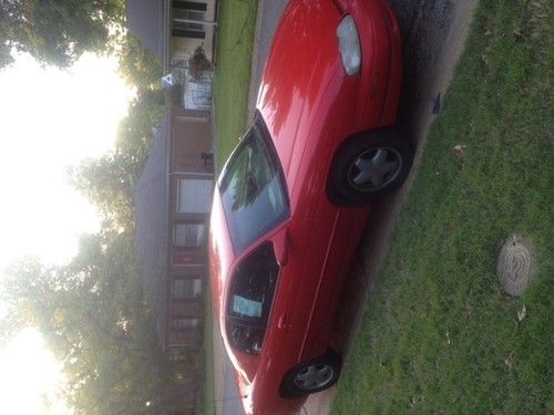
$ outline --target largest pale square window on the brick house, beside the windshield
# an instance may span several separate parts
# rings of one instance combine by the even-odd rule
[[[208,214],[214,183],[208,179],[177,180],[177,214]]]

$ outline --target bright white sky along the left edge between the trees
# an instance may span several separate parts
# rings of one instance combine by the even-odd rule
[[[61,71],[19,54],[0,70],[0,284],[13,261],[64,263],[80,235],[100,229],[68,168],[113,148],[133,96],[116,68],[113,59],[85,54]],[[60,365],[38,332],[0,350],[0,414],[66,412],[53,387],[63,383]]]

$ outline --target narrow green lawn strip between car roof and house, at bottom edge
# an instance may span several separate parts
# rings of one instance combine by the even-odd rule
[[[201,414],[215,414],[215,382],[214,382],[214,315],[212,312],[212,290],[206,291],[204,304],[204,360],[206,376],[204,378],[204,401]]]

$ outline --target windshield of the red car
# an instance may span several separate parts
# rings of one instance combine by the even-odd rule
[[[219,191],[236,253],[288,217],[285,180],[260,116],[225,166]]]

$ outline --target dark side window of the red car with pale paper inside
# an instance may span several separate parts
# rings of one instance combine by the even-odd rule
[[[227,298],[227,336],[244,353],[261,352],[278,274],[270,242],[256,248],[235,269]]]

